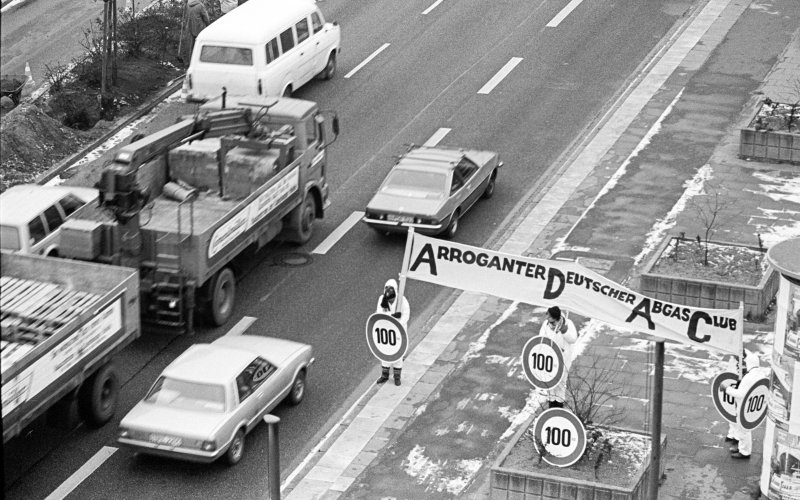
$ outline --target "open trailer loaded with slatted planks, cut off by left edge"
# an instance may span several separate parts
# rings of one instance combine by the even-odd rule
[[[75,398],[89,425],[108,422],[112,359],[140,335],[138,272],[7,251],[0,268],[3,442]]]

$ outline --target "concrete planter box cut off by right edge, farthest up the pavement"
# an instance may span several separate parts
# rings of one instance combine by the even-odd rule
[[[788,104],[763,102],[750,125],[740,129],[739,156],[800,165],[800,130],[795,124],[786,129],[791,111]]]

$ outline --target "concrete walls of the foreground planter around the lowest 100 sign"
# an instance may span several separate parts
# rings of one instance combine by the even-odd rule
[[[648,488],[650,485],[650,453],[648,450],[644,460],[644,466],[636,476],[632,487],[626,488],[615,484],[604,484],[601,479],[598,482],[583,481],[580,479],[560,477],[555,474],[546,474],[535,470],[518,470],[503,467],[503,462],[511,453],[511,450],[520,440],[525,431],[533,424],[534,417],[531,417],[523,425],[511,441],[506,445],[503,452],[497,457],[491,469],[491,500],[647,500]],[[616,428],[614,428],[616,429]],[[644,435],[638,431],[625,430],[634,434]],[[647,440],[648,446],[650,440]],[[664,475],[664,464],[667,451],[667,436],[661,435],[661,473]],[[531,464],[535,468],[536,464]],[[552,470],[553,467],[548,467]]]

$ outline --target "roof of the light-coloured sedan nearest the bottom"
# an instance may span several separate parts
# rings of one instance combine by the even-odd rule
[[[256,358],[243,349],[194,344],[167,366],[162,375],[191,382],[224,384],[233,380]]]

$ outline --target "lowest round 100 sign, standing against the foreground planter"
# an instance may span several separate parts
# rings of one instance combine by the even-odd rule
[[[586,429],[578,417],[565,408],[542,412],[533,424],[533,436],[542,459],[556,467],[569,467],[586,451]]]

